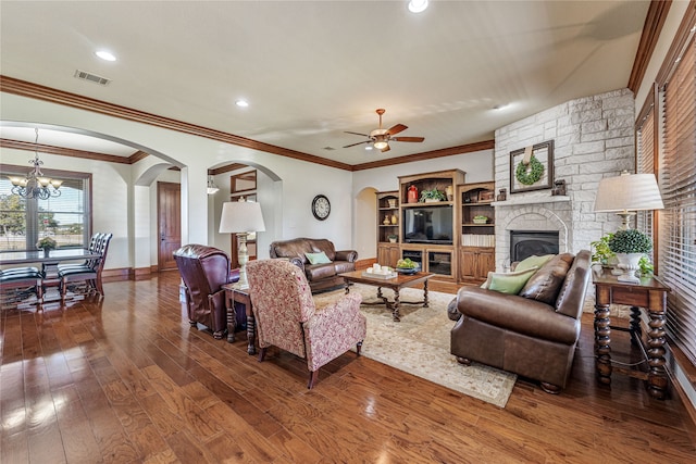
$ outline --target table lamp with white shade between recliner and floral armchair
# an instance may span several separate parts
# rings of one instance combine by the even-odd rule
[[[237,234],[239,237],[239,288],[249,288],[247,280],[247,236],[250,233],[264,231],[263,215],[261,205],[243,198],[239,201],[227,201],[222,204],[222,215],[220,216],[220,234]]]

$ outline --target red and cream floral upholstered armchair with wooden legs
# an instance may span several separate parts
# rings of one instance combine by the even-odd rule
[[[353,344],[360,355],[366,319],[362,297],[341,296],[316,309],[304,273],[287,260],[259,260],[247,264],[249,296],[257,322],[259,362],[270,346],[307,360],[312,388],[319,369]]]

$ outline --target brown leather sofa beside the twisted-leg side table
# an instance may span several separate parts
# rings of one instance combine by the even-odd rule
[[[538,380],[558,393],[573,364],[583,302],[591,277],[591,252],[556,255],[518,294],[463,287],[449,308],[450,350],[472,361]]]

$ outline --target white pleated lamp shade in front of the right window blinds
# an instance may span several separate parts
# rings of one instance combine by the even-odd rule
[[[662,210],[662,197],[654,174],[621,173],[599,181],[596,212]]]

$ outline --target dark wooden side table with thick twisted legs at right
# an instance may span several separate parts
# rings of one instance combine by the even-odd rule
[[[595,274],[593,283],[596,290],[595,304],[595,356],[597,379],[605,385],[611,384],[611,373],[647,380],[651,397],[663,399],[667,389],[664,372],[664,317],[667,315],[667,293],[669,287],[657,278],[641,278],[641,284],[621,283],[616,276],[604,272]],[[647,360],[648,372],[630,369],[611,364],[611,329],[626,330],[611,326],[609,308],[611,304],[631,306],[631,322],[627,331]],[[650,317],[647,333],[647,350],[643,346],[641,330],[641,308],[648,311]]]

